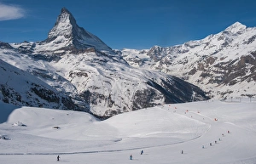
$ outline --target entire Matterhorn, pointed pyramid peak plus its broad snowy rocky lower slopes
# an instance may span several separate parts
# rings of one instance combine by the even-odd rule
[[[0,57],[47,83],[52,92],[57,90],[61,95],[70,96],[75,104],[71,110],[85,110],[96,116],[208,99],[200,88],[175,76],[131,67],[98,37],[79,27],[67,8],[61,9],[47,39],[0,42]],[[3,76],[2,84],[7,78]],[[18,86],[19,81],[14,85]],[[0,94],[3,99],[9,99],[3,91]]]

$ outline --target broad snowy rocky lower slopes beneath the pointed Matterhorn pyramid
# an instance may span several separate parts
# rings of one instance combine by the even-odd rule
[[[30,47],[23,42],[20,47]],[[113,116],[125,111],[165,103],[207,99],[203,91],[188,82],[158,71],[138,70],[124,59],[101,52],[73,54],[20,54],[14,48],[0,49],[2,59],[34,78],[71,96],[81,107],[97,116]],[[55,59],[59,58],[59,59]],[[16,82],[16,81],[13,81]]]

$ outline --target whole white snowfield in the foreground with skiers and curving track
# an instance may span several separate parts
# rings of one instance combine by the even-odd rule
[[[256,163],[256,102],[248,99],[163,105],[105,121],[73,110],[0,106],[4,164],[51,164],[58,155],[61,163]]]

